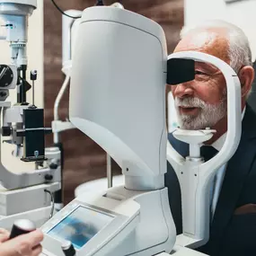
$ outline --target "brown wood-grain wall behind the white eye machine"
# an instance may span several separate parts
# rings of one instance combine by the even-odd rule
[[[59,0],[57,4],[62,10],[84,10],[95,4],[94,0]],[[115,1],[104,1],[112,4]],[[179,40],[183,25],[183,0],[123,0],[125,8],[141,13],[159,22],[163,26],[171,53]],[[61,73],[61,13],[50,0],[44,0],[44,90],[46,125],[53,119],[53,105],[58,90],[65,76]],[[66,119],[68,114],[68,92],[66,92],[59,109],[60,117]],[[150,138],[149,138],[150,139]],[[83,182],[106,177],[106,154],[93,140],[78,130],[65,131],[61,135],[64,144],[64,197],[65,202],[74,199],[75,188]],[[52,136],[47,137],[47,145],[52,144]],[[119,166],[113,163],[115,174],[120,173]]]

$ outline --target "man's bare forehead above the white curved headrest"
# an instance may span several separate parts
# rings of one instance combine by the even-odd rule
[[[186,35],[174,52],[195,50],[218,57],[229,64],[229,44],[223,30],[195,30]]]

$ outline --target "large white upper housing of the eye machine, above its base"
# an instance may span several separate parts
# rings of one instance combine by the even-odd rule
[[[121,166],[128,189],[163,188],[166,62],[157,23],[115,7],[84,11],[69,117]]]

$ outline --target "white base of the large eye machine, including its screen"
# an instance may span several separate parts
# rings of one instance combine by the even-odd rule
[[[157,255],[172,252],[176,237],[166,188],[136,191],[119,186],[82,194],[41,230],[42,246],[50,252],[45,254],[56,256],[63,255],[66,240],[74,244],[77,256]]]

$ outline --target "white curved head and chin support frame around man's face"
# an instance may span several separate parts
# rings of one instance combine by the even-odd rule
[[[207,243],[209,235],[209,190],[217,170],[233,156],[242,132],[241,84],[231,66],[214,56],[194,51],[173,53],[170,58],[188,58],[216,66],[225,76],[227,88],[227,135],[220,152],[202,163],[184,159],[167,144],[167,159],[181,185],[183,236],[179,244],[198,247]]]

